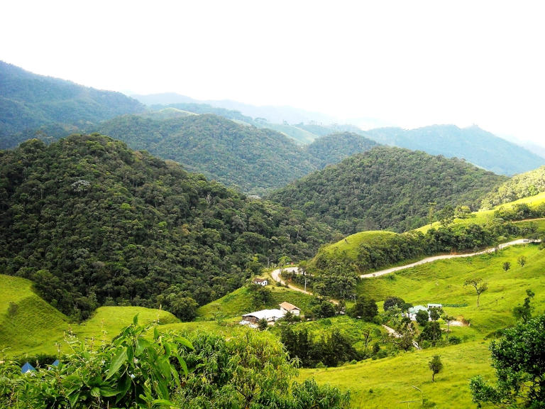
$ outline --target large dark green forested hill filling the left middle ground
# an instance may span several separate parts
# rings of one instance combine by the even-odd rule
[[[97,134],[0,151],[0,230],[0,271],[76,318],[125,304],[183,317],[192,299],[219,298],[280,256],[312,256],[331,236],[302,212]]]

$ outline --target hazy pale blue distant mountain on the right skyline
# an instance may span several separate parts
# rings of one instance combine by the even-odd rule
[[[434,125],[409,130],[379,128],[366,131],[365,134],[385,145],[424,151],[447,158],[463,158],[500,175],[514,175],[545,164],[544,158],[483,131],[478,126],[463,129],[454,125]]]

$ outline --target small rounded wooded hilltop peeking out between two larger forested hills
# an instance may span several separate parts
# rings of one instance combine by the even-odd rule
[[[307,152],[321,169],[331,163],[341,162],[348,156],[368,151],[377,145],[378,143],[375,141],[357,133],[331,133],[331,135],[322,136],[312,142],[307,146]]]

